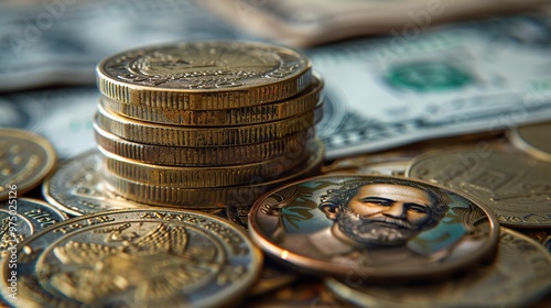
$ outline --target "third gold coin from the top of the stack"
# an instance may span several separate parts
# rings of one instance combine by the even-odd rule
[[[269,142],[313,127],[322,117],[321,107],[280,121],[227,128],[188,128],[153,124],[112,113],[101,105],[94,121],[104,131],[129,141],[164,146],[229,146]]]

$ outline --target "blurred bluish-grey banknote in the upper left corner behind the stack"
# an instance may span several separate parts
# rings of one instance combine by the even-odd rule
[[[0,91],[93,85],[101,58],[137,46],[240,38],[191,0],[28,2],[0,2]]]

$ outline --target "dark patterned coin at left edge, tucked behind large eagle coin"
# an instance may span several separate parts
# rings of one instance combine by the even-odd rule
[[[31,234],[68,217],[51,205],[31,198],[18,198],[0,204],[0,258]]]

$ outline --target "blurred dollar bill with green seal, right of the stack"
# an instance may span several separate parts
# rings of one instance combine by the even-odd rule
[[[515,16],[309,50],[326,157],[551,119],[551,19]]]

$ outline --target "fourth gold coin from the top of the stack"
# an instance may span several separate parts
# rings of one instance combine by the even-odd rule
[[[108,133],[96,123],[93,125],[97,144],[114,154],[142,163],[188,167],[250,164],[293,156],[301,153],[315,135],[315,129],[310,128],[282,139],[249,145],[187,147],[137,143]]]

